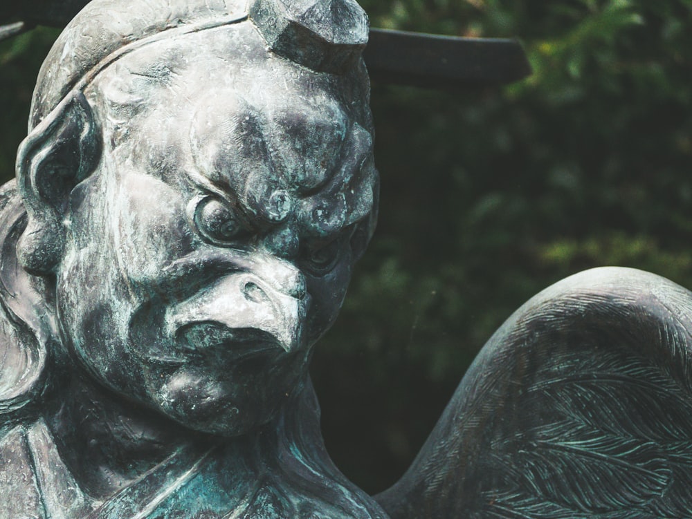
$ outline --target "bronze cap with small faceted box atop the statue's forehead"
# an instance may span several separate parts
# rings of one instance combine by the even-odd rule
[[[29,131],[132,50],[248,19],[274,53],[319,72],[343,73],[367,43],[367,15],[354,0],[93,0],[48,53]]]

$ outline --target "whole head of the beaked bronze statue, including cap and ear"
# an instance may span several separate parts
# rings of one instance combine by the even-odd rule
[[[62,366],[199,431],[276,415],[374,226],[366,39],[352,0],[95,0],[71,22],[5,211],[29,330],[8,408]]]

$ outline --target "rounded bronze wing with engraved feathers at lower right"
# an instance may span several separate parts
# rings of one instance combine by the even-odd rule
[[[621,268],[502,325],[406,475],[392,519],[692,516],[692,293]]]

